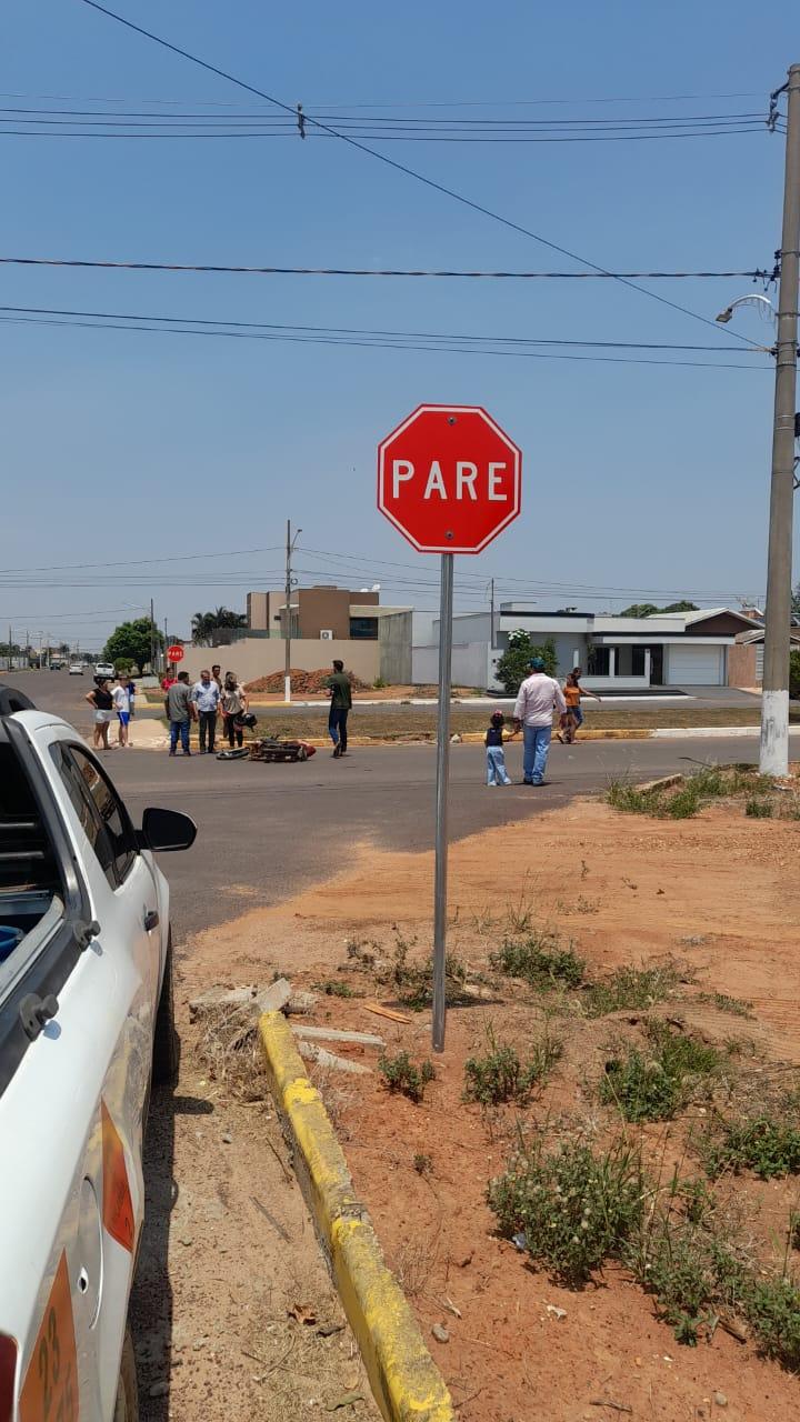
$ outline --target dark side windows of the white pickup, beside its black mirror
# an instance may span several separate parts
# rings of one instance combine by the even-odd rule
[[[128,812],[97,762],[80,747],[53,747],[64,788],[98,863],[112,889],[127,877],[137,857]]]

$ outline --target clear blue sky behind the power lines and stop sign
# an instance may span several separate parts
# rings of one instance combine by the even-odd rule
[[[501,9],[477,0],[118,0],[117,9],[310,112],[352,112],[370,101],[480,101],[487,108],[461,112],[541,118],[762,111],[800,57],[789,0],[772,7],[769,26],[756,26],[744,0],[575,0],[568,10],[530,0]],[[81,0],[10,0],[0,78],[4,94],[26,95],[0,100],[7,107],[33,95],[33,107],[57,107],[41,95],[124,100],[125,109],[157,100],[186,111],[201,101],[256,107]],[[700,98],[656,98],[682,94]],[[616,102],[588,102],[596,98]],[[622,102],[629,98],[642,102]],[[530,107],[501,108],[522,100]],[[540,107],[542,100],[567,102]],[[780,240],[783,138],[766,131],[614,144],[397,142],[384,151],[614,270],[766,267]],[[7,135],[0,152],[7,256],[572,266],[336,141]],[[651,289],[709,317],[759,290],[742,279]],[[615,282],[1,266],[0,292],[4,306],[181,319],[736,344],[732,327],[717,334]],[[772,338],[747,311],[736,330]],[[493,574],[507,592],[541,584],[541,607],[622,606],[648,587],[757,594],[773,380],[772,363],[752,364],[522,360],[1,323],[3,565],[111,566],[7,576],[17,586],[0,593],[0,626],[11,621],[16,638],[44,627],[91,646],[120,620],[117,609],[135,614],[152,596],[159,620],[185,633],[196,609],[241,607],[248,586],[276,583],[286,518],[303,528],[303,582],[381,582],[386,602],[433,607],[436,559],[414,555],[374,509],[376,445],[423,401],[483,404],[524,451],[522,516],[480,559],[461,560],[463,607],[477,604]],[[238,549],[275,552],[134,565]],[[578,584],[599,592],[582,594]]]

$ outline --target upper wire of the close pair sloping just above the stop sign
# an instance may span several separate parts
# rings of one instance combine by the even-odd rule
[[[579,346],[579,347],[604,347],[614,350],[658,350],[658,351],[735,351],[740,353],[739,346],[680,346],[663,341],[594,341],[594,340],[568,340],[559,338],[545,338],[545,337],[521,337],[521,336],[477,336],[465,331],[387,331],[369,327],[352,327],[352,326],[300,326],[295,323],[285,321],[235,321],[235,320],[214,320],[211,317],[202,316],[151,316],[142,311],[77,311],[65,307],[48,307],[48,306],[0,306],[0,311],[26,314],[26,316],[75,316],[97,319],[101,321],[164,321],[169,326],[212,326],[212,327],[233,327],[236,330],[258,330],[258,331],[306,331],[313,334],[325,336],[367,336],[376,338],[399,338],[399,340],[430,340],[430,341],[475,341],[481,344],[508,344],[508,346]]]

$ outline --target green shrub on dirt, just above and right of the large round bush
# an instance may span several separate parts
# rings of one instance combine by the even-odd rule
[[[601,1101],[619,1106],[625,1121],[669,1121],[720,1065],[716,1048],[663,1022],[648,1024],[648,1038],[649,1051],[628,1047],[605,1064]]]

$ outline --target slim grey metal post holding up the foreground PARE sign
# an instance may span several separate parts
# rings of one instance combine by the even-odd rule
[[[436,744],[436,870],[433,910],[433,1049],[444,1051],[447,957],[447,791],[453,654],[453,553],[441,555],[438,611],[438,735]]]

